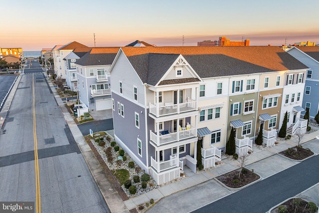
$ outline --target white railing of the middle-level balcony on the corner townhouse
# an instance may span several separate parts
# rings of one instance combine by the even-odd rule
[[[160,133],[155,134],[150,130],[150,138],[157,146],[168,144],[175,141],[180,141],[188,138],[197,136],[196,128],[191,128],[188,130],[181,130],[179,132],[168,133],[165,135],[160,135]]]

